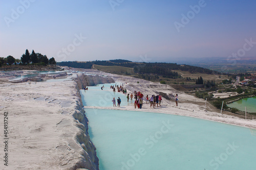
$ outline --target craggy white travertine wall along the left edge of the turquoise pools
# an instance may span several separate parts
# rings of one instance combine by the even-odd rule
[[[88,75],[79,75],[76,78],[76,89],[78,101],[76,103],[75,111],[72,116],[76,119],[75,126],[79,128],[79,131],[75,134],[75,139],[77,143],[80,144],[82,150],[80,150],[80,154],[82,158],[80,161],[73,166],[73,169],[89,169],[89,170],[98,170],[99,169],[99,159],[96,155],[96,148],[93,142],[90,139],[88,133],[88,119],[84,114],[84,110],[82,107],[82,100],[79,90],[83,88],[83,86],[94,86],[96,84],[101,83],[113,83],[115,82],[112,78],[101,77],[98,75],[88,76]]]

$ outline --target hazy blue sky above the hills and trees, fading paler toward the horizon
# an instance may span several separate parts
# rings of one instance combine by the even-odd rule
[[[0,57],[256,59],[255,0],[0,0],[0,18]]]

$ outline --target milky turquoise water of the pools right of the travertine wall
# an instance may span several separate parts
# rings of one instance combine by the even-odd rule
[[[111,92],[89,91],[82,94],[83,105]],[[255,130],[161,113],[85,110],[101,170],[256,167]]]

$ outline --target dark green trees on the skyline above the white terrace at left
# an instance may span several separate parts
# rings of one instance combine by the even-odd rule
[[[55,59],[52,57],[48,59],[46,55],[42,55],[40,53],[35,53],[34,50],[30,54],[28,49],[25,54],[20,57],[20,59],[15,59],[13,56],[8,56],[6,58],[0,57],[0,66],[2,65],[12,65],[12,64],[36,64],[36,65],[48,65],[48,64],[56,64]]]

